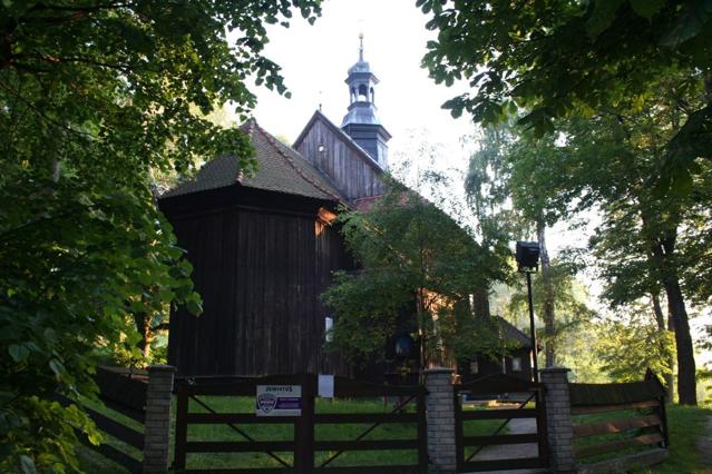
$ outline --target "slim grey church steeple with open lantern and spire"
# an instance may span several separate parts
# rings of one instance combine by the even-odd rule
[[[349,86],[349,111],[341,129],[373,158],[381,168],[388,167],[388,145],[391,135],[383,128],[377,115],[375,86],[378,78],[363,60],[363,33],[359,34],[359,60],[349,68],[345,82]]]

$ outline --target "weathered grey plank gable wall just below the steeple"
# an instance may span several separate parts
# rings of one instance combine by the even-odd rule
[[[380,179],[382,170],[334,130],[335,126],[325,124],[321,118],[310,124],[305,135],[300,137],[296,150],[329,176],[347,198],[359,199],[386,192],[386,185]],[[323,145],[323,151],[319,151],[320,145]]]

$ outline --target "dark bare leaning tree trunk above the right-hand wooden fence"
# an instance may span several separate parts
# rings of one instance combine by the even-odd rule
[[[665,277],[663,282],[667,295],[667,307],[675,327],[675,345],[677,347],[677,397],[681,405],[698,404],[698,386],[695,381],[694,348],[690,335],[690,322],[676,277]]]

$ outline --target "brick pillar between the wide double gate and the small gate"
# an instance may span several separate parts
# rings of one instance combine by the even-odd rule
[[[457,457],[452,369],[443,367],[427,369],[426,391],[430,463],[438,472],[453,473],[457,468]]]

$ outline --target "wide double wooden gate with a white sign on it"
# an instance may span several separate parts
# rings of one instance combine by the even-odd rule
[[[256,416],[255,395],[259,385],[300,385],[301,415]],[[334,401],[350,399],[341,405],[325,399],[316,403],[316,376],[311,374],[178,381],[177,393],[173,466],[176,471],[218,468],[220,472],[248,473],[266,472],[266,468],[275,473],[334,474],[427,472],[426,403],[425,388],[421,386],[389,386],[334,377]],[[237,403],[237,397],[243,397],[242,404]],[[370,402],[359,404],[358,401],[363,398],[370,398]],[[384,399],[398,402],[392,406],[389,402],[386,408]],[[379,413],[372,409],[377,403],[383,408]],[[353,409],[349,407],[350,404],[354,405]],[[330,411],[330,406],[335,411]],[[414,436],[375,438],[374,431],[381,425],[390,424],[410,425]],[[197,425],[222,425],[223,428],[228,428],[231,438],[205,440],[195,428],[193,433],[188,433],[192,426]],[[267,432],[271,426],[277,425],[282,428]],[[353,428],[345,436],[344,433],[335,436],[329,431],[329,426],[345,425]],[[321,427],[326,429],[320,429]],[[349,452],[383,453],[392,450],[412,452],[413,461],[388,465],[382,465],[382,462],[380,465],[378,462],[350,465],[344,460]],[[194,462],[188,460],[191,455],[199,457],[199,453],[222,453],[223,456],[231,453],[262,453],[266,462],[248,467],[244,458],[232,462],[225,460],[220,465],[206,465],[199,458]],[[386,454],[381,457],[391,456]]]

